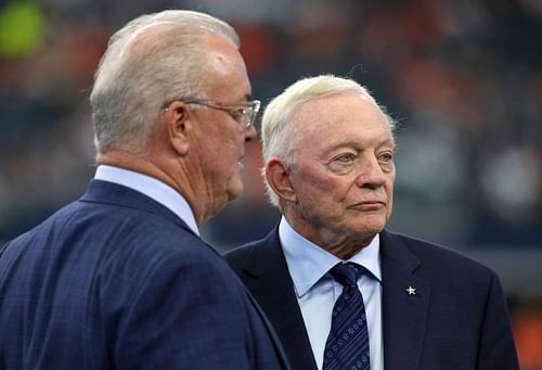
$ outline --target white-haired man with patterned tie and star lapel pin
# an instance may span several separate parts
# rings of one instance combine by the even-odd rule
[[[385,229],[393,127],[350,79],[301,79],[273,99],[262,118],[263,174],[282,219],[227,259],[295,369],[322,369],[324,353],[328,358],[345,343],[326,343],[343,292],[328,271],[344,263],[365,271],[357,280],[364,314],[344,339],[366,322],[372,370],[518,369],[498,276],[452,250]]]

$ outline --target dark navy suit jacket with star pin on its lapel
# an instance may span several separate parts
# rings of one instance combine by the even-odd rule
[[[227,260],[273,323],[294,369],[315,369],[275,228]],[[386,370],[519,369],[502,288],[482,265],[421,240],[383,231]],[[405,289],[416,289],[409,295]]]

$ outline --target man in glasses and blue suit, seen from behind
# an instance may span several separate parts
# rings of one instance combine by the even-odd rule
[[[190,11],[117,31],[91,93],[95,178],[0,256],[1,369],[284,369],[198,226],[243,191],[259,109],[228,24]]]

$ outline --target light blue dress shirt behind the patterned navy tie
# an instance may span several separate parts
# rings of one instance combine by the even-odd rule
[[[327,271],[341,259],[301,237],[284,217],[279,226],[279,239],[294,280],[297,303],[301,309],[312,353],[318,368],[322,369],[333,306],[343,292],[343,285]],[[372,370],[384,369],[379,247],[379,238],[376,235],[371,244],[348,259],[362,265],[376,278],[362,275],[358,281],[367,317]]]

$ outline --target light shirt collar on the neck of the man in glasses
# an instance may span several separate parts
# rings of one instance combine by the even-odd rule
[[[106,165],[98,166],[94,179],[115,182],[145,194],[179,216],[192,231],[199,235],[196,219],[189,202],[173,188],[160,180],[129,169]]]

